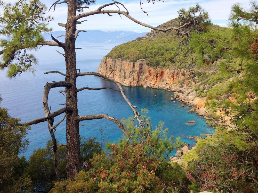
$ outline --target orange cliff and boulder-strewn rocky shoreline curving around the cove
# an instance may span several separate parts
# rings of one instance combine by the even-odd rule
[[[168,92],[174,91],[174,95],[173,97],[171,96],[170,100],[178,100],[192,107],[188,111],[189,113],[197,113],[205,119],[212,118],[211,113],[205,107],[206,98],[196,97],[197,92],[187,87],[187,83],[191,82],[191,78],[190,72],[186,69],[152,68],[146,65],[145,59],[130,62],[121,58],[103,57],[97,72],[115,79],[124,86],[142,86],[143,88],[163,89]],[[181,84],[179,85],[178,82],[180,81]],[[184,107],[183,104],[180,107]],[[230,125],[229,119],[229,117],[226,117],[226,121],[223,123],[220,120],[217,121]],[[193,124],[193,122],[189,124]],[[197,140],[199,137],[189,136],[189,138]],[[180,163],[181,156],[189,151],[189,144],[184,144],[182,148],[178,149],[175,156],[170,156],[170,161]]]

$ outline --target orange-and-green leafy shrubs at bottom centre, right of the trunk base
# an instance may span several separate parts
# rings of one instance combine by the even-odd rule
[[[187,191],[188,180],[182,168],[166,162],[163,154],[181,143],[165,139],[167,130],[162,124],[152,130],[150,125],[137,127],[132,118],[124,122],[133,140],[124,138],[118,144],[109,143],[107,151],[93,157],[74,181],[58,181],[51,192]]]

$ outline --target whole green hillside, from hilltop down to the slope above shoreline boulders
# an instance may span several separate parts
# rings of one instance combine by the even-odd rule
[[[170,20],[158,27],[170,27],[178,26],[177,19]],[[220,27],[218,25],[211,25],[209,30],[212,31],[216,36],[228,37],[232,33],[230,28]],[[191,37],[190,37],[191,38]],[[216,37],[217,38],[217,37]],[[179,40],[176,36],[175,30],[168,32],[160,32],[152,30],[141,38],[137,38],[131,42],[123,43],[122,45],[113,48],[107,57],[121,58],[122,60],[129,60],[136,62],[139,59],[146,59],[146,64],[151,67],[168,68],[174,67],[176,69],[188,68],[189,57],[183,58],[182,54],[180,62],[176,61],[179,55]],[[209,48],[207,48],[209,49]],[[208,51],[207,51],[208,52]],[[187,83],[188,87],[192,87],[193,90],[197,91],[196,96],[205,97],[209,99],[216,98],[221,92],[225,90],[225,86],[228,85],[226,81],[229,80],[236,73],[225,74],[220,70],[221,64],[224,60],[229,58],[220,59],[213,61],[209,58],[209,55],[205,55],[203,58],[195,56],[193,54],[193,68],[195,70],[195,81],[196,84],[192,84],[185,80],[179,81],[178,84],[183,86]],[[213,65],[204,62],[204,59],[211,61]],[[232,65],[238,64],[238,59],[230,58]],[[188,80],[191,78],[188,77]],[[213,88],[217,83],[223,83],[219,87]]]

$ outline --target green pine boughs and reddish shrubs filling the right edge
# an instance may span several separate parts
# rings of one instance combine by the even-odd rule
[[[212,139],[199,144],[201,149],[195,151],[198,159],[189,164],[189,179],[202,189],[258,191],[257,11],[255,1],[249,10],[237,3],[232,6],[229,18],[231,34],[208,31],[191,37],[190,46],[200,57],[200,63],[212,64],[223,58],[220,72],[235,76],[215,87],[216,95],[210,95],[213,100],[207,104],[214,113],[220,111],[230,116],[234,128],[228,131],[232,126],[217,125],[223,130],[217,130]],[[232,58],[239,61],[232,63]]]

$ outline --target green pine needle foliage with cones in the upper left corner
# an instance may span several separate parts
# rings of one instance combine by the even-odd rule
[[[47,24],[53,17],[45,15],[46,6],[38,0],[0,2],[0,6],[4,10],[0,33],[5,37],[0,41],[0,46],[4,47],[0,68],[8,67],[9,78],[25,71],[34,72],[37,59],[30,50],[36,50],[39,42],[44,41],[42,32],[52,30]]]

